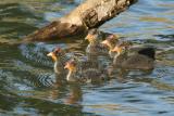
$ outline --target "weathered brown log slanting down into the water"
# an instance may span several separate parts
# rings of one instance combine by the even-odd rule
[[[137,0],[86,0],[67,15],[50,23],[25,40],[46,41],[65,37],[82,36],[90,28],[97,28],[128,9]]]

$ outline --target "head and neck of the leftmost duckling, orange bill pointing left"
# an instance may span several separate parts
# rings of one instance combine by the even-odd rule
[[[53,69],[58,75],[65,75],[66,70],[64,69],[64,64],[69,61],[64,50],[61,48],[55,48],[52,52],[48,53],[47,56],[52,57],[54,62]]]

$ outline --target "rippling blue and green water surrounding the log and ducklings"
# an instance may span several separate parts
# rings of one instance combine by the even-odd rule
[[[82,38],[13,44],[82,1],[0,1],[0,115],[173,116],[173,0],[139,0],[100,27],[135,44],[156,47],[156,67],[149,74],[130,73],[101,85],[59,83],[46,54],[58,44],[84,54],[86,44],[80,44]]]

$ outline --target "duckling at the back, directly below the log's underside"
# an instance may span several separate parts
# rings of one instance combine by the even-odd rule
[[[90,29],[85,39],[89,41],[89,44],[86,48],[86,53],[89,53],[89,54],[107,54],[108,53],[108,48],[100,43],[100,40],[101,40],[100,34],[96,28]]]

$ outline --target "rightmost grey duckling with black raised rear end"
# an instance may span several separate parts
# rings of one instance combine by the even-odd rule
[[[112,52],[116,52],[113,65],[125,69],[153,69],[154,48],[142,48],[138,52],[128,54],[124,43],[117,44]]]

